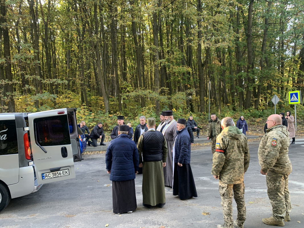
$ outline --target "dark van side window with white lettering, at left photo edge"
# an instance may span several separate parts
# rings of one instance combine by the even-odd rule
[[[0,155],[18,154],[16,122],[0,120]]]

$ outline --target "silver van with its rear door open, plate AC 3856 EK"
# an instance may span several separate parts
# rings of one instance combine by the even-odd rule
[[[76,109],[0,114],[0,211],[44,183],[75,178]]]

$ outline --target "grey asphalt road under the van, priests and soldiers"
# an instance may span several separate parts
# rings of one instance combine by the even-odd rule
[[[257,159],[259,142],[249,143],[250,165],[245,174],[245,227],[269,227],[262,218],[271,216],[265,176],[260,174]],[[302,228],[304,224],[304,140],[290,145],[289,157],[293,171],[289,176],[292,200],[291,221],[286,227]],[[0,213],[0,227],[216,227],[223,224],[218,181],[211,175],[211,148],[193,147],[191,167],[198,197],[180,200],[165,188],[164,208],[142,206],[142,175],[136,175],[137,209],[132,214],[113,214],[112,187],[105,170],[105,154],[85,155],[75,163],[76,178],[43,185],[38,192],[12,199]],[[202,213],[206,212],[207,215]],[[236,204],[233,201],[233,218]],[[300,223],[299,223],[300,222]]]

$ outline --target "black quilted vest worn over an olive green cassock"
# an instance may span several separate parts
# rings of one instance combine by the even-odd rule
[[[143,161],[163,160],[162,147],[164,136],[160,131],[146,131],[143,133]]]

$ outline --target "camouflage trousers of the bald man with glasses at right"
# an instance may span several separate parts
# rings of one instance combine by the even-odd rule
[[[288,175],[268,172],[266,175],[267,194],[272,206],[272,216],[283,221],[285,214],[291,211],[288,190]]]

